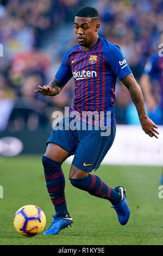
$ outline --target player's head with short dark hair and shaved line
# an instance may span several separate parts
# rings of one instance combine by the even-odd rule
[[[74,19],[74,31],[80,45],[89,47],[97,38],[99,30],[99,14],[93,7],[80,9]]]

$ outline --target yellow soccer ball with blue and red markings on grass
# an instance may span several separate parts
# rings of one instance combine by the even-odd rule
[[[25,205],[17,210],[14,215],[14,227],[24,236],[38,235],[45,227],[46,216],[35,205]]]

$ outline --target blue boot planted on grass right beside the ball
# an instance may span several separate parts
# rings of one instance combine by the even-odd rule
[[[57,235],[59,234],[59,231],[61,229],[64,228],[69,228],[70,226],[72,227],[72,217],[70,216],[70,214],[68,214],[68,216],[66,217],[57,217],[57,214],[55,214],[54,216],[52,215],[52,217],[54,218],[52,224],[50,225],[50,227],[48,228],[48,230],[46,230],[43,235]]]

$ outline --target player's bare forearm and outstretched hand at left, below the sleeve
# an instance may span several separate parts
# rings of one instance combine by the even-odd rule
[[[65,83],[61,83],[57,80],[57,78],[54,78],[46,86],[38,86],[39,89],[35,90],[35,93],[41,93],[44,96],[55,96],[60,93],[64,86]]]

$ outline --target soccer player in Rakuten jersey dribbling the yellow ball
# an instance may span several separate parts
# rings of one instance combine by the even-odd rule
[[[71,184],[92,196],[109,200],[120,224],[125,225],[129,220],[130,210],[124,187],[111,188],[97,175],[91,174],[93,169],[97,170],[100,166],[114,142],[117,77],[130,92],[142,129],[150,137],[158,138],[158,127],[147,117],[141,89],[120,47],[99,37],[99,27],[99,14],[95,8],[85,7],[79,10],[74,18],[74,31],[79,44],[65,53],[54,80],[35,90],[36,93],[45,96],[55,96],[70,78],[74,77],[74,105],[70,107],[69,114],[59,121],[64,129],[54,127],[52,130],[47,141],[46,153],[42,157],[47,190],[55,208],[54,220],[44,235],[58,234],[61,229],[69,227],[73,222],[67,210],[65,178],[61,169],[62,162],[70,155],[74,155],[69,175]],[[92,118],[92,123],[89,117],[83,117],[83,113],[89,111],[99,113],[98,118]],[[76,120],[77,129],[68,127],[73,120]],[[80,122],[86,124],[86,129],[78,129]],[[90,124],[92,130],[89,129]],[[102,136],[102,128],[105,128],[106,132],[109,131],[107,136]]]

